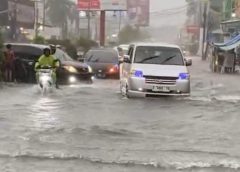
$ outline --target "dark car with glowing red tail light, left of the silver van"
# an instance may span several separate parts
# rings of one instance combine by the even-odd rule
[[[114,49],[92,49],[85,56],[85,63],[91,66],[95,76],[99,78],[119,78],[119,56]]]

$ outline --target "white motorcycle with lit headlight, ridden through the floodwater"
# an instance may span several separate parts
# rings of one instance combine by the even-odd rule
[[[38,85],[41,90],[42,95],[53,91],[54,81],[53,81],[53,69],[51,67],[43,67],[39,69],[39,80]]]

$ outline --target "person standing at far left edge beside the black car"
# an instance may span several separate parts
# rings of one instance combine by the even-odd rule
[[[15,55],[12,50],[12,45],[7,44],[6,51],[4,52],[4,75],[6,82],[12,82],[14,79],[14,61]]]

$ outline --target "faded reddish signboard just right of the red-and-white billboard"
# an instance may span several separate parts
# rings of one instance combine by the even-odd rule
[[[136,26],[149,26],[150,0],[128,0],[128,19]]]

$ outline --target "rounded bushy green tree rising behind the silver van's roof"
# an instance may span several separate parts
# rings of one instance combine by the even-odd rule
[[[125,26],[118,34],[119,43],[130,43],[133,41],[144,41],[150,36],[148,33],[141,31],[138,28],[133,28],[130,25]]]

